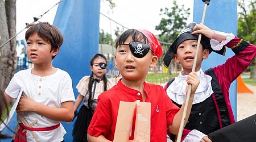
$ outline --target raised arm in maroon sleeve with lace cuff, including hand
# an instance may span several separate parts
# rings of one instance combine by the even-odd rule
[[[227,34],[225,32],[213,31],[204,24],[197,24],[192,34],[203,34],[209,39],[217,40],[218,43],[214,43],[211,40],[211,44],[214,43],[217,48],[223,46],[229,47],[236,54],[222,65],[213,68],[216,76],[221,76],[221,74],[226,74],[225,80],[223,80],[225,86],[229,86],[231,82],[236,80],[236,78],[247,68],[251,61],[253,61],[256,55],[256,47],[253,44],[249,44],[246,41],[234,36],[233,34]],[[229,37],[229,38],[227,38]],[[212,48],[215,47],[212,45]],[[220,81],[221,83],[221,81]]]

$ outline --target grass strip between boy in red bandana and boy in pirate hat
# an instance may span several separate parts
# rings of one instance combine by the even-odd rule
[[[168,82],[171,78],[177,77],[179,73],[148,73],[146,77],[146,82],[160,84]]]

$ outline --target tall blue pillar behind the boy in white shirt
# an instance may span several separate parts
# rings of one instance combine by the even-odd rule
[[[53,65],[69,73],[73,91],[77,97],[76,85],[90,75],[90,59],[98,53],[100,21],[100,0],[72,0],[60,3],[53,24],[64,36],[60,52]],[[73,122],[62,122],[67,134],[65,141],[72,141]]]

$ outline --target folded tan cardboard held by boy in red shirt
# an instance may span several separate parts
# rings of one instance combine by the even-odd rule
[[[120,101],[117,125],[115,126],[114,142],[127,142],[129,140],[135,107],[137,111],[134,140],[150,142],[151,103],[139,101]]]

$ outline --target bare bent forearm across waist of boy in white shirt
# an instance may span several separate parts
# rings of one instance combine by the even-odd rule
[[[62,107],[49,107],[38,103],[33,111],[52,120],[71,122],[74,117],[73,101],[63,102],[61,105]]]

